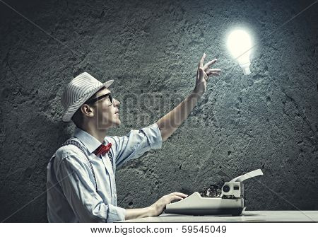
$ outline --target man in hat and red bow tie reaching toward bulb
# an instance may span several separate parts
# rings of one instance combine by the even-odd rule
[[[113,222],[158,216],[166,204],[187,195],[173,192],[150,207],[123,209],[117,207],[115,170],[131,158],[162,142],[184,122],[206,91],[208,76],[220,69],[209,69],[214,59],[204,65],[201,57],[194,91],[175,109],[153,125],[131,130],[124,137],[106,136],[107,129],[120,125],[119,101],[108,89],[113,80],[101,83],[84,72],[65,88],[61,102],[63,121],[72,120],[76,129],[52,156],[47,166],[47,218],[49,222]]]

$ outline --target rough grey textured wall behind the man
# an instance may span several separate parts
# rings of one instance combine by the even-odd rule
[[[247,209],[318,209],[318,4],[293,18],[314,0],[6,2],[18,13],[0,2],[1,221],[47,221],[46,166],[73,131],[60,105],[73,76],[115,80],[122,125],[110,134],[124,135],[192,91],[203,52],[222,76],[163,149],[117,170],[119,206],[261,168]],[[248,76],[225,47],[237,25],[257,43]]]

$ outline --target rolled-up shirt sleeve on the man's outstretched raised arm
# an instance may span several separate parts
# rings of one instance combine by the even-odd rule
[[[155,123],[140,130],[131,130],[123,137],[106,137],[112,143],[116,166],[121,166],[131,158],[138,158],[150,149],[160,149],[163,139]]]

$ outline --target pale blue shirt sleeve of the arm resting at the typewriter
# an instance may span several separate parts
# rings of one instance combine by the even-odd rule
[[[57,180],[80,222],[114,222],[125,219],[126,210],[102,201],[92,182],[87,160],[67,156],[57,168]]]

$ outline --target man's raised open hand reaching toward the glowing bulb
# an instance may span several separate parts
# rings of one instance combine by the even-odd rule
[[[220,76],[220,69],[209,69],[209,67],[214,64],[217,59],[213,59],[204,65],[204,59],[206,58],[206,53],[200,59],[198,71],[196,71],[196,87],[194,88],[194,92],[198,93],[200,96],[206,92],[206,82],[208,81],[208,77],[215,75]]]

